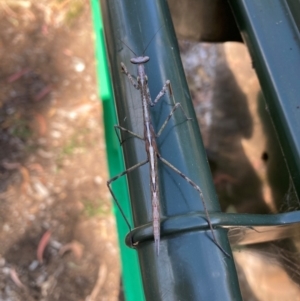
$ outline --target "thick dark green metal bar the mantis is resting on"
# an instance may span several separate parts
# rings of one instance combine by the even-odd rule
[[[166,1],[103,0],[102,8],[119,125],[143,135],[140,94],[120,72],[120,63],[124,62],[134,74],[134,66],[130,69],[127,63],[132,54],[119,39],[142,54],[162,26],[146,53],[150,57],[147,64],[150,93],[152,97],[156,95],[169,79],[176,101],[193,120],[186,122],[182,115],[175,114],[157,139],[158,148],[164,158],[199,185],[208,210],[220,211]],[[171,109],[168,97],[153,108],[156,131]],[[127,138],[123,151],[126,168],[129,168],[145,160],[146,152],[143,141],[130,135]],[[162,216],[187,214],[182,220],[184,224],[188,222],[188,213],[203,211],[200,196],[189,183],[160,162],[158,169]],[[141,167],[128,175],[128,184],[134,226],[143,226],[152,220],[149,167]],[[222,247],[231,253],[226,230],[216,229],[215,234]],[[205,231],[198,229],[163,236],[159,256],[155,254],[153,237],[138,245],[137,252],[147,300],[241,300],[233,259],[224,256],[214,244],[208,226]]]

